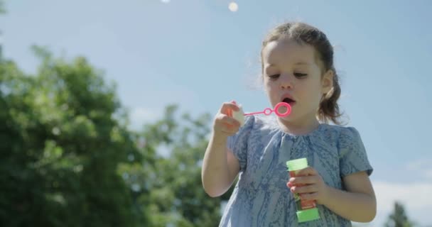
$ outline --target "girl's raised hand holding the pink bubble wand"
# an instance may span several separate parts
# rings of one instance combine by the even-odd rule
[[[215,122],[213,123],[213,131],[215,135],[234,135],[239,131],[240,123],[236,119],[232,118],[232,111],[239,111],[239,107],[232,102],[225,102],[220,107],[220,110],[215,116]]]

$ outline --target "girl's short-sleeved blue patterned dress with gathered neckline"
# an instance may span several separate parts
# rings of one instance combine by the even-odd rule
[[[240,164],[239,180],[220,226],[351,226],[351,222],[318,204],[320,219],[298,223],[293,194],[286,187],[286,161],[301,157],[326,184],[344,189],[342,177],[372,173],[355,128],[320,124],[307,135],[281,131],[274,116],[247,116],[227,146]]]

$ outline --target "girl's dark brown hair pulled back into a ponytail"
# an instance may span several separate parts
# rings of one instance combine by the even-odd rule
[[[339,117],[342,116],[338,105],[340,84],[338,74],[333,65],[333,46],[330,44],[327,36],[318,28],[310,26],[307,23],[288,22],[276,26],[276,28],[271,30],[262,42],[261,72],[264,70],[262,50],[268,43],[281,38],[289,38],[296,40],[298,43],[306,43],[313,46],[317,54],[315,57],[318,60],[318,65],[321,67],[322,74],[325,74],[328,70],[333,71],[333,88],[330,89],[330,92],[323,95],[316,115],[322,122],[328,123],[328,121],[333,121],[333,123],[340,125]]]

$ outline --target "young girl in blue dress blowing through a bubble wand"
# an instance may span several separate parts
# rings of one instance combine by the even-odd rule
[[[210,196],[227,192],[239,175],[220,226],[351,226],[372,221],[377,209],[365,147],[355,128],[340,124],[340,86],[326,35],[306,23],[284,23],[261,48],[262,82],[271,106],[291,105],[284,117],[247,116],[224,103],[202,164]],[[286,161],[309,166],[289,177]],[[291,192],[290,192],[291,191]],[[317,202],[320,219],[298,223],[293,194]]]

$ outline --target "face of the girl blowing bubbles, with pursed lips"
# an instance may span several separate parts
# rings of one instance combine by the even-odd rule
[[[317,121],[321,98],[333,87],[333,73],[321,76],[314,48],[285,38],[268,43],[261,55],[271,106],[281,101],[291,105],[291,114],[282,120],[300,125]]]

